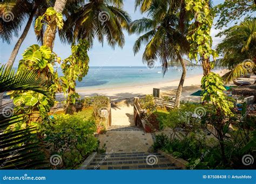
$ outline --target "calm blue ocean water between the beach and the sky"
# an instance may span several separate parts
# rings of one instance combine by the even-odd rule
[[[60,69],[58,73],[62,75]],[[169,67],[164,77],[161,67],[151,69],[146,66],[90,67],[83,80],[77,81],[77,88],[105,89],[174,81],[180,79],[181,73],[181,67]],[[199,74],[203,74],[201,67],[187,67],[186,77]]]

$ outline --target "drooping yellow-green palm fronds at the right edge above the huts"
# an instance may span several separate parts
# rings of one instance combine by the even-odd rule
[[[226,38],[217,46],[223,54],[218,67],[227,67],[230,72],[223,76],[226,83],[255,71],[256,62],[256,19],[247,20],[231,27]]]

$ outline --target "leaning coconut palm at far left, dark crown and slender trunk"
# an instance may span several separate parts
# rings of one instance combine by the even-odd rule
[[[0,13],[5,17],[0,20],[0,38],[3,41],[10,43],[12,36],[17,36],[22,25],[26,24],[6,63],[7,67],[12,67],[14,64],[19,48],[29,32],[33,20],[42,15],[49,5],[47,0],[5,0],[0,4]],[[6,18],[8,19],[6,20]]]

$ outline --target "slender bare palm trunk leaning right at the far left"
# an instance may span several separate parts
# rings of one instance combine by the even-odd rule
[[[11,52],[10,58],[9,58],[8,62],[6,63],[6,67],[11,68],[12,65],[14,65],[14,61],[15,61],[15,58],[16,58],[18,52],[19,52],[19,48],[21,48],[21,45],[22,45],[23,41],[25,40],[26,35],[28,34],[29,29],[31,27],[33,17],[35,16],[35,13],[36,13],[36,9],[37,9],[37,7],[35,6],[35,8],[33,9],[33,11],[31,12],[31,14],[29,16],[29,20],[26,23],[26,26],[23,30],[23,33],[22,33],[21,37],[19,37],[17,43],[14,46],[14,49]],[[4,96],[4,93],[0,93],[0,106],[3,104],[3,96]]]

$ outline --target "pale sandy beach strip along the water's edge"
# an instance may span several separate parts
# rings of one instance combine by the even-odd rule
[[[220,75],[224,74],[224,70],[219,70],[216,72]],[[192,77],[186,77],[183,85],[183,93],[181,100],[200,100],[199,97],[190,96],[197,90],[200,90],[201,78],[203,74],[196,75]],[[159,82],[153,84],[143,84],[140,86],[127,86],[120,88],[109,88],[109,89],[86,89],[86,88],[77,88],[77,92],[81,97],[85,96],[95,96],[95,95],[105,95],[110,97],[112,101],[120,101],[133,97],[139,97],[144,95],[149,95],[153,93],[153,88],[160,89],[160,95],[162,96],[171,96],[175,97],[176,90],[179,85],[179,80],[170,81],[170,82]],[[60,94],[58,94],[59,96]]]

